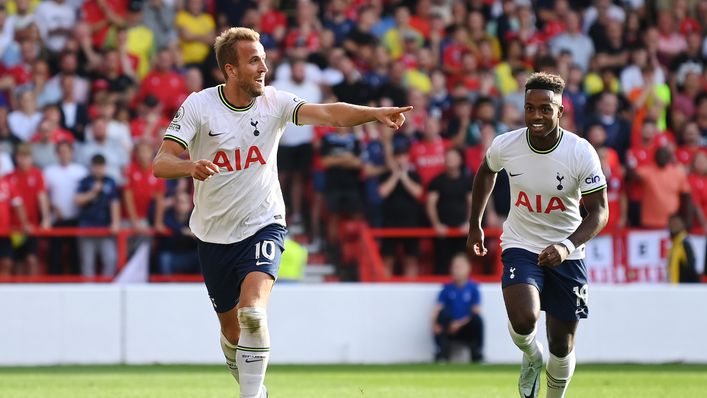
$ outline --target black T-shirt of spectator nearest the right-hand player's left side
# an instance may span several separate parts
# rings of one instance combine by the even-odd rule
[[[442,224],[458,227],[467,221],[467,196],[471,193],[473,178],[463,173],[457,178],[451,178],[442,173],[430,182],[429,191],[437,192],[437,215]]]

